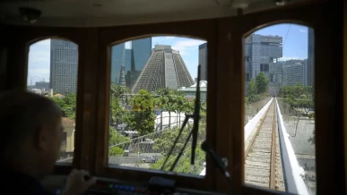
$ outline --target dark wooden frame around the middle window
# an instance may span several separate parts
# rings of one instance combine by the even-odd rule
[[[99,87],[98,87],[98,132],[97,136],[97,150],[96,150],[96,170],[95,173],[102,176],[113,177],[123,180],[136,180],[138,182],[148,182],[154,175],[165,176],[167,178],[178,179],[177,185],[179,187],[190,187],[201,190],[213,190],[214,170],[212,162],[207,157],[207,168],[205,177],[199,175],[188,174],[172,174],[164,173],[154,170],[146,169],[132,169],[122,166],[109,167],[108,166],[108,102],[109,102],[109,89],[110,89],[110,53],[111,46],[117,45],[128,40],[136,38],[146,38],[155,36],[178,36],[187,38],[199,38],[208,42],[208,64],[215,64],[215,53],[217,50],[216,39],[216,22],[215,20],[205,21],[184,21],[161,23],[151,25],[136,25],[125,27],[112,27],[100,30],[100,66],[99,66]],[[197,65],[197,64],[196,64]],[[215,98],[216,98],[216,82],[215,70],[216,66],[208,65],[207,72],[209,77],[208,82],[208,101],[207,104],[207,127],[206,138],[214,142],[215,133]],[[199,147],[199,146],[198,146]]]

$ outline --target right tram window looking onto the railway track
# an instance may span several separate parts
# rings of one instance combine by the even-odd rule
[[[313,36],[285,23],[245,38],[245,183],[316,194]]]

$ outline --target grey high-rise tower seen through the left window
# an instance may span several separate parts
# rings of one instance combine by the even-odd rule
[[[56,93],[77,89],[78,46],[63,39],[50,39],[50,88]]]

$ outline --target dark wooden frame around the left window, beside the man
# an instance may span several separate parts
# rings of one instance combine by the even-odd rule
[[[91,170],[94,166],[91,161],[92,158],[90,158],[90,154],[93,153],[91,151],[92,146],[87,136],[86,139],[82,139],[83,134],[88,135],[89,131],[91,131],[92,124],[95,123],[91,118],[90,111],[95,106],[92,103],[93,98],[91,97],[92,92],[95,94],[95,91],[92,91],[92,86],[95,86],[95,84],[91,82],[92,74],[88,74],[88,72],[91,72],[92,59],[84,58],[86,53],[90,51],[86,49],[86,44],[88,45],[88,43],[92,42],[85,41],[88,40],[90,30],[74,28],[32,28],[25,26],[6,27],[13,41],[7,45],[8,66],[6,74],[8,76],[5,89],[27,89],[28,57],[31,44],[47,38],[58,38],[72,41],[78,45],[74,160],[72,164],[56,164],[54,174],[69,174],[73,167]],[[24,34],[22,34],[23,31],[25,31]]]

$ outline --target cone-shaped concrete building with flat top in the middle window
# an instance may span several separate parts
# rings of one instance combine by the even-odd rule
[[[147,89],[152,92],[167,87],[178,89],[194,83],[179,52],[171,46],[156,45],[132,91],[137,93],[140,89]]]

